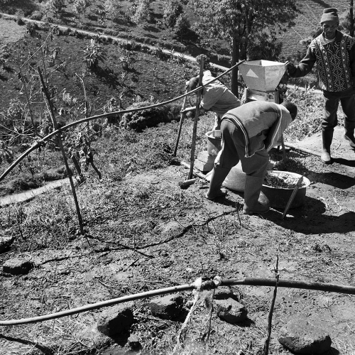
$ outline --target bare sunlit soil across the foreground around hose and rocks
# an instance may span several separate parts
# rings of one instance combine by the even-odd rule
[[[278,154],[273,158],[278,158]],[[355,286],[354,175],[344,175],[344,165],[339,163],[322,164],[315,155],[300,151],[287,154],[288,158],[302,158],[311,185],[307,187],[305,204],[290,209],[285,219],[281,218],[282,209],[271,209],[263,216],[244,216],[240,192],[229,191],[226,198],[214,202],[206,200],[206,183],[202,179],[181,190],[178,182],[187,176],[187,169],[182,166],[125,180],[121,189],[126,189],[129,195],[146,191],[146,203],[126,206],[126,211],[115,219],[104,219],[97,211],[97,219],[87,225],[88,239],[75,238],[60,251],[1,254],[1,263],[13,257],[29,258],[35,263],[28,275],[0,276],[2,293],[6,295],[0,305],[2,320],[45,315],[123,295],[192,283],[200,276],[273,278],[277,257],[280,278]],[[169,196],[171,203],[150,210],[151,198],[156,201],[160,195]],[[119,239],[105,233],[107,224],[116,225]],[[217,354],[235,354],[232,346],[244,351],[248,346],[257,349],[266,336],[272,289],[236,286],[234,293],[249,310],[249,324],[230,326],[214,315],[211,337]],[[185,301],[193,298],[192,293],[182,295]],[[141,354],[168,354],[174,342],[169,332],[179,329],[181,323],[154,320],[148,301],[135,302],[137,323],[131,334],[138,334],[146,349]],[[13,351],[11,354],[27,354],[24,349],[32,354],[30,349],[37,346],[38,350],[39,345],[35,344],[50,351],[55,344],[58,346],[59,340],[62,348],[53,354],[74,354],[72,350],[78,346],[80,349],[86,346],[87,351],[99,349],[99,344],[107,350],[97,354],[125,354],[122,339],[108,342],[95,330],[101,312],[4,327],[1,334],[7,338],[1,335],[0,342],[4,349]],[[195,322],[202,315],[204,310],[200,309],[193,317],[189,328],[192,339],[198,335]],[[353,295],[278,288],[271,350],[273,354],[285,351],[278,344],[278,331],[288,320],[301,317],[327,329],[332,338],[332,354],[353,354],[354,316]],[[221,343],[222,330],[229,334],[228,344]],[[165,332],[170,334],[166,349],[154,347],[152,332],[160,342]],[[159,344],[157,339],[155,342]],[[30,340],[28,345],[19,343]]]

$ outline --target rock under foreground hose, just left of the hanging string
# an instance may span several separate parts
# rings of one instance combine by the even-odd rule
[[[180,315],[182,311],[183,299],[180,295],[166,295],[164,297],[153,298],[149,303],[153,315],[172,320]]]

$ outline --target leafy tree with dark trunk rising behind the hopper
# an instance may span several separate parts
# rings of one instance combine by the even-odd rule
[[[190,0],[198,22],[195,31],[208,43],[212,38],[229,40],[231,64],[246,59],[249,46],[268,32],[273,35],[293,25],[296,0]],[[282,27],[283,26],[283,27]],[[238,94],[238,72],[231,72],[231,91]]]

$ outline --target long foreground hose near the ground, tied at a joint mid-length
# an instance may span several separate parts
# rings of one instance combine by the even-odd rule
[[[197,279],[199,280],[199,279]],[[202,281],[202,279],[200,279]],[[19,324],[28,324],[28,323],[37,323],[43,322],[45,320],[54,320],[56,318],[67,317],[68,315],[75,315],[77,313],[87,312],[89,310],[97,310],[102,307],[108,307],[111,305],[116,305],[118,303],[128,302],[131,300],[140,300],[141,298],[153,297],[157,295],[166,295],[168,293],[178,293],[181,291],[187,290],[210,290],[213,288],[217,288],[219,286],[230,286],[230,285],[251,285],[251,286],[268,286],[275,287],[275,279],[274,278],[242,278],[242,279],[226,279],[222,280],[219,276],[216,276],[214,280],[208,280],[200,283],[199,281],[195,281],[195,283],[185,284],[174,286],[170,288],[161,288],[159,290],[151,290],[145,293],[136,293],[134,295],[114,298],[112,300],[106,300],[98,303],[94,303],[92,305],[85,305],[78,308],[73,308],[72,310],[65,310],[62,312],[56,312],[49,315],[42,315],[38,317],[31,318],[22,318],[20,320],[2,320],[0,321],[0,327],[4,327],[6,325],[19,325]],[[354,286],[344,286],[337,285],[332,283],[312,283],[307,281],[294,281],[294,280],[286,280],[280,279],[278,280],[278,287],[282,288],[302,288],[305,290],[318,290],[325,292],[334,292],[334,293],[346,293],[348,295],[355,295],[355,287]]]

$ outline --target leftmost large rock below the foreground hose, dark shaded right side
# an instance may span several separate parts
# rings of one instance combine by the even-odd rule
[[[132,306],[133,302],[126,302],[104,310],[97,324],[97,330],[107,337],[115,337],[128,331],[134,322]]]

